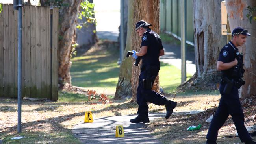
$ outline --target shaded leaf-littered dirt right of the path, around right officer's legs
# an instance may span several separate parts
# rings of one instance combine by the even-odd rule
[[[186,105],[186,102],[182,102]],[[243,112],[245,113],[245,126],[253,126],[256,124],[256,96],[252,96],[241,101]],[[206,134],[210,123],[205,122],[212,114],[215,113],[217,107],[213,107],[195,115],[172,115],[169,120],[160,119],[147,125],[147,128],[160,138],[163,143],[167,144],[204,144]],[[187,131],[187,127],[201,124],[202,127],[197,131]],[[218,133],[218,144],[241,143],[239,137],[236,136],[236,127],[233,124],[231,116],[228,117],[224,126]],[[256,137],[252,137],[256,139]]]

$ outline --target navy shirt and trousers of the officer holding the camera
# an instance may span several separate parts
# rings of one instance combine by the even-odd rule
[[[147,102],[155,105],[164,105],[165,96],[160,95],[154,90],[143,87],[143,79],[150,79],[152,86],[160,70],[159,51],[163,49],[160,36],[148,29],[142,37],[141,46],[147,46],[147,53],[141,57],[141,74],[139,75],[139,86],[137,88],[137,103],[139,105],[138,115],[148,117]]]

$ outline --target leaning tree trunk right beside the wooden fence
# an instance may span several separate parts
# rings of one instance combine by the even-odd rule
[[[71,58],[71,45],[74,42],[76,23],[82,0],[63,0],[63,3],[69,6],[62,7],[59,13],[60,29],[59,35],[59,79],[65,84],[71,85],[70,68],[72,62]]]

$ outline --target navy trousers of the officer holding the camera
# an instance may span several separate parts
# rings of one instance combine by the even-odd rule
[[[154,90],[143,89],[142,87],[142,79],[151,77],[153,78],[152,81],[154,81],[156,78],[159,68],[154,67],[153,69],[154,70],[152,70],[152,68],[145,68],[145,70],[141,71],[141,74],[139,75],[139,86],[137,88],[137,104],[139,107],[137,114],[142,117],[148,117],[147,102],[151,102],[155,105],[164,105],[164,102],[166,101],[166,96],[161,96]]]

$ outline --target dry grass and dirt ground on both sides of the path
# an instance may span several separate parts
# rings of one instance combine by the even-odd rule
[[[82,90],[72,89],[73,94]],[[86,94],[86,93],[84,93]],[[189,144],[204,143],[209,123],[205,120],[213,114],[218,106],[220,95],[198,94],[176,96],[178,102],[174,112],[191,110],[206,110],[196,115],[174,114],[169,120],[158,118],[146,125],[163,143]],[[173,97],[169,97],[173,99]],[[256,97],[241,102],[244,107],[245,124],[255,124]],[[130,100],[113,100],[102,104],[98,100],[79,100],[74,102],[46,102],[22,100],[22,136],[27,138],[22,143],[80,143],[71,133],[74,125],[83,122],[85,111],[92,111],[93,118],[106,116],[130,115],[137,113],[137,103]],[[149,105],[149,113],[163,112],[164,106]],[[17,136],[17,100],[0,99],[0,139],[4,143],[13,143],[9,138]],[[191,125],[202,124],[198,131],[187,131]],[[239,138],[223,139],[224,136],[234,136],[236,129],[231,118],[228,118],[219,131],[219,143],[240,142]],[[17,142],[18,143],[18,142]]]

